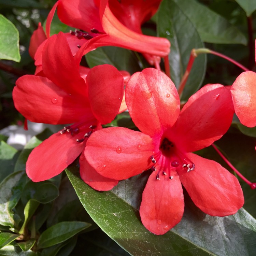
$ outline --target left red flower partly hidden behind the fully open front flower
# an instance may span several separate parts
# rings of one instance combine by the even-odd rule
[[[15,107],[32,122],[74,124],[31,152],[26,172],[34,182],[50,179],[72,163],[84,151],[90,134],[114,119],[124,95],[123,75],[113,66],[96,66],[89,71],[80,67],[79,71],[81,58],[73,57],[62,32],[47,40],[42,56],[46,77],[20,77],[13,90]],[[118,182],[99,175],[84,154],[80,173],[98,190],[109,190]]]

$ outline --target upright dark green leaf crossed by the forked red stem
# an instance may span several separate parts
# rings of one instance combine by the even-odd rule
[[[172,0],[161,2],[157,15],[157,29],[160,37],[165,37],[171,42],[169,54],[171,79],[178,88],[186,71],[191,50],[204,47],[204,44],[194,24],[180,6]],[[182,100],[187,100],[200,87],[205,76],[205,69],[206,55],[202,54],[194,61]]]

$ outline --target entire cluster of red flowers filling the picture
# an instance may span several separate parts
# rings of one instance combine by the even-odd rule
[[[48,16],[46,34],[39,24],[31,38],[35,75],[17,80],[13,99],[16,109],[32,122],[69,124],[29,155],[26,171],[32,181],[58,175],[79,156],[82,179],[97,190],[110,190],[119,180],[152,170],[140,216],[148,230],[164,234],[181,221],[182,185],[197,207],[212,216],[234,214],[242,207],[243,193],[236,177],[192,152],[210,146],[227,132],[233,102],[242,123],[256,124],[255,118],[243,119],[246,108],[256,110],[250,98],[256,96],[252,86],[256,77],[254,72],[242,73],[231,92],[220,84],[206,85],[180,110],[177,90],[159,67],[160,58],[170,52],[170,43],[141,31],[161,1],[144,2],[58,0]],[[63,23],[80,30],[50,37],[56,8]],[[111,65],[80,66],[83,55],[107,45],[141,52],[159,70],[148,68],[130,77]],[[249,93],[242,94],[248,85]],[[127,107],[140,131],[102,129]]]

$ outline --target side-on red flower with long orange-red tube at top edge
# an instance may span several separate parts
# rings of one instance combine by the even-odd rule
[[[160,62],[160,57],[170,52],[170,42],[165,38],[143,35],[141,24],[156,11],[160,0],[59,0],[48,16],[46,31],[57,8],[60,20],[82,31],[72,32],[81,39],[90,39],[105,34],[96,47],[118,46],[144,53],[151,65]],[[49,35],[48,35],[49,36]]]

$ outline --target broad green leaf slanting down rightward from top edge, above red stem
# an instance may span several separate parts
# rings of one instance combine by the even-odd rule
[[[171,0],[184,12],[194,24],[204,42],[217,44],[244,44],[245,36],[228,20],[195,0]],[[243,1],[243,0],[241,0]],[[248,0],[251,1],[251,0]],[[183,31],[182,24],[180,24]]]

